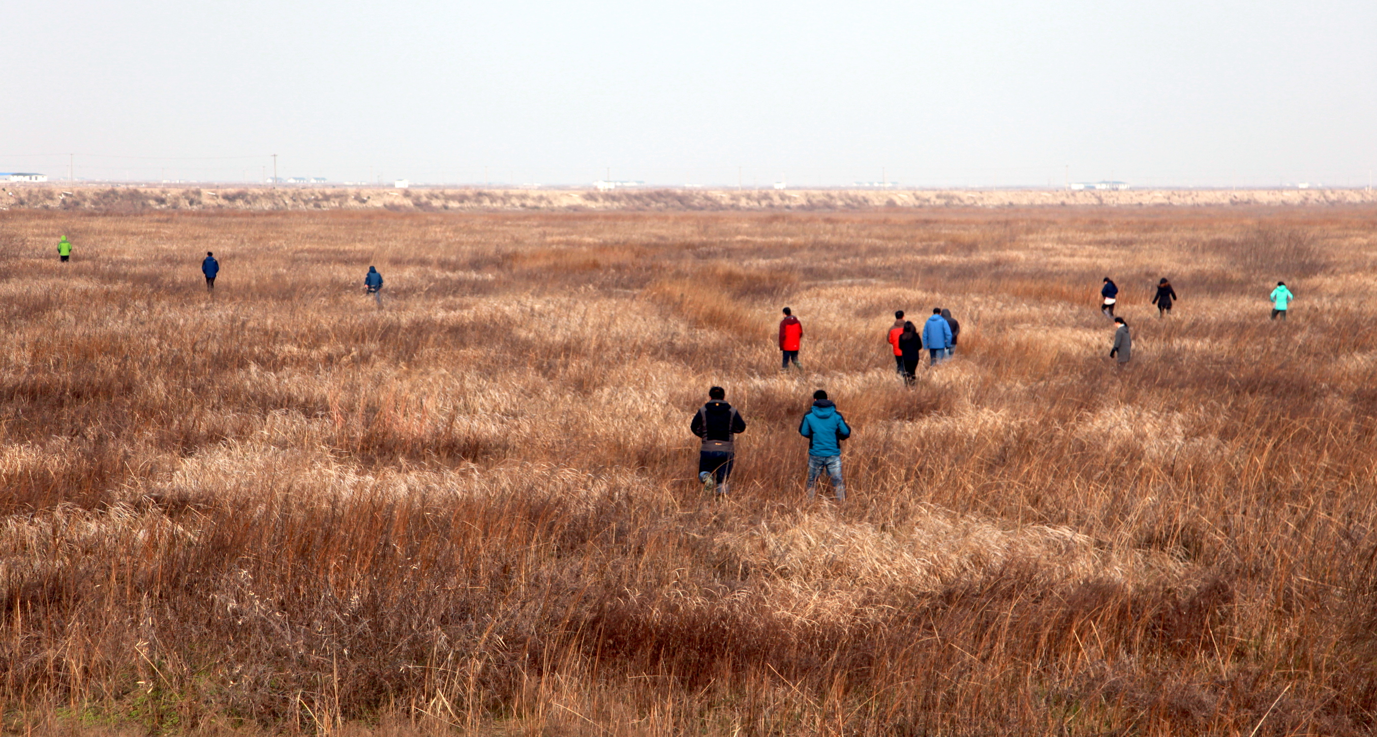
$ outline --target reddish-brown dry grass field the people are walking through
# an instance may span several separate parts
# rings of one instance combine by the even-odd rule
[[[0,731],[1371,733],[1374,260],[1370,205],[0,212]]]

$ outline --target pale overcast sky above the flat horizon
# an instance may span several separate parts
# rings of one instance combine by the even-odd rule
[[[0,0],[0,171],[1366,186],[1374,0]],[[162,158],[154,158],[162,157]],[[226,157],[226,158],[189,158]],[[242,157],[242,158],[229,158]]]

